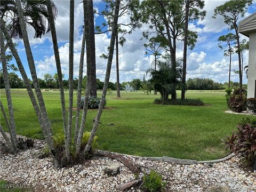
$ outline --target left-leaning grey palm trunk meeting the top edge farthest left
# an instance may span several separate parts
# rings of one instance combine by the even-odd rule
[[[31,47],[30,47],[30,44],[29,44],[26,24],[25,24],[25,21],[24,21],[23,11],[22,11],[20,0],[16,1],[16,5],[17,5],[17,11],[18,11],[18,18],[19,18],[19,22],[20,22],[21,33],[22,33],[22,37],[23,37],[23,43],[24,43],[24,46],[25,46],[26,54],[27,54],[28,65],[29,65],[31,77],[33,79],[33,84],[34,84],[34,87],[35,87],[36,96],[37,96],[37,99],[38,99],[38,104],[39,104],[39,107],[41,109],[43,121],[44,121],[44,124],[45,124],[45,129],[46,129],[46,133],[47,133],[45,139],[47,140],[47,143],[49,143],[50,148],[54,149],[53,148],[51,123],[49,121],[49,117],[47,115],[47,111],[46,111],[46,108],[45,108],[43,95],[42,95],[41,89],[39,87],[37,74],[36,74],[36,68],[35,68],[35,62],[34,62],[33,54],[31,52]]]

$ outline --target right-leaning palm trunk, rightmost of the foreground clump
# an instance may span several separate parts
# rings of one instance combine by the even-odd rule
[[[117,21],[118,21],[119,5],[120,5],[120,1],[116,0],[114,22],[113,22],[112,33],[111,33],[111,38],[110,38],[110,45],[109,45],[109,56],[108,56],[105,82],[104,82],[103,91],[102,91],[102,95],[101,95],[101,99],[100,99],[100,106],[99,106],[98,113],[97,113],[97,116],[96,116],[94,124],[93,124],[93,128],[92,128],[89,140],[84,149],[85,152],[88,152],[91,149],[92,141],[93,141],[96,131],[98,129],[100,117],[101,117],[103,107],[105,104],[106,93],[107,93],[107,88],[108,88],[108,83],[109,83],[110,72],[111,72],[111,65],[112,65],[112,60],[113,60],[115,38],[116,38],[116,34],[117,34]]]

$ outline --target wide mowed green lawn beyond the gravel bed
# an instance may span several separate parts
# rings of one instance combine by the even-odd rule
[[[0,93],[7,110],[5,90]],[[43,97],[53,132],[62,131],[59,92],[43,91]],[[196,160],[221,158],[228,153],[221,139],[230,135],[237,123],[245,117],[225,113],[227,106],[224,92],[188,91],[187,98],[200,98],[206,103],[201,107],[156,105],[153,101],[159,98],[159,94],[147,95],[141,91],[122,91],[121,97],[116,99],[114,91],[107,95],[107,107],[103,110],[102,124],[97,131],[99,149],[139,156],[171,156]],[[43,139],[27,91],[12,90],[12,99],[17,133]],[[68,92],[66,103],[68,106]],[[91,131],[96,113],[95,109],[89,110],[85,131]],[[110,123],[114,126],[109,126]],[[2,116],[1,124],[7,131]]]

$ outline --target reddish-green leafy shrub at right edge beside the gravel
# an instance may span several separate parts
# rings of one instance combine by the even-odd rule
[[[246,122],[249,122],[246,124]],[[250,124],[252,123],[252,124]],[[242,162],[256,170],[256,121],[244,118],[237,126],[237,132],[225,140],[226,147],[242,157]]]

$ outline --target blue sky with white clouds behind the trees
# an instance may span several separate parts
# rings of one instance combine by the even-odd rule
[[[78,75],[79,55],[82,44],[82,30],[83,25],[83,5],[75,2],[75,35],[74,35],[74,76]],[[69,2],[68,1],[54,1],[58,9],[58,17],[56,22],[57,38],[59,42],[60,59],[62,63],[62,71],[65,78],[68,78],[68,38],[69,38]],[[206,17],[202,21],[189,23],[189,29],[198,32],[198,41],[194,50],[188,51],[188,71],[187,78],[212,78],[217,82],[228,81],[228,58],[223,57],[223,51],[218,49],[218,37],[230,33],[227,30],[227,26],[223,22],[221,17],[213,19],[213,9],[225,3],[225,1],[205,1]],[[104,5],[101,1],[94,1],[94,8],[101,11]],[[256,2],[249,7],[245,16],[250,15],[256,11]],[[242,20],[243,18],[240,18]],[[126,21],[127,18],[121,18],[122,21]],[[95,15],[95,25],[102,23],[102,17]],[[142,31],[147,29],[146,25],[143,25],[140,29],[135,30],[131,35],[126,35],[127,39],[124,47],[119,47],[119,69],[120,80],[131,81],[133,78],[143,78],[145,71],[151,66],[153,57],[145,55],[145,49],[143,44],[147,42],[146,39],[141,39]],[[39,78],[43,78],[45,73],[56,73],[55,60],[52,49],[51,34],[46,34],[41,39],[35,39],[33,29],[28,30],[30,37],[30,44],[36,62],[36,69]],[[241,35],[241,38],[246,38]],[[247,38],[246,38],[247,39]],[[109,46],[110,36],[107,34],[95,35],[96,45],[96,60],[97,60],[97,77],[102,81],[105,77],[105,70],[107,61],[99,58],[102,53],[107,53],[107,47]],[[23,65],[30,77],[26,53],[22,42],[19,42],[18,53],[22,60]],[[177,55],[182,57],[183,42],[178,43]],[[114,55],[115,57],[115,55]],[[244,65],[248,60],[248,55],[245,53]],[[13,61],[15,63],[15,61]],[[85,62],[86,63],[86,62]],[[237,55],[232,57],[232,69],[238,70]],[[116,82],[115,61],[113,60],[113,66],[110,75],[110,81]],[[19,74],[19,73],[18,73]],[[86,66],[84,66],[84,75],[86,74]],[[20,75],[20,74],[19,74]],[[231,74],[231,81],[238,81],[238,75]],[[247,79],[244,78],[244,83]]]

